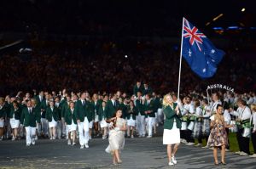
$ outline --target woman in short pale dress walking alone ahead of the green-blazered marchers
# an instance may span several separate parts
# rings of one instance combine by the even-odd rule
[[[113,165],[122,163],[119,153],[120,149],[124,149],[125,146],[126,122],[121,116],[122,110],[117,110],[114,117],[107,120],[110,123],[110,131],[108,137],[109,145],[106,152],[113,155]]]

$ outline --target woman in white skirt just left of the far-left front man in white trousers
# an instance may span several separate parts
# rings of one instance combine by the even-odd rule
[[[13,130],[13,138],[12,140],[15,140],[18,135],[18,128],[20,127],[20,108],[18,106],[18,103],[16,101],[13,102],[13,106],[11,106],[11,109],[9,111],[9,117],[10,117],[10,126]]]

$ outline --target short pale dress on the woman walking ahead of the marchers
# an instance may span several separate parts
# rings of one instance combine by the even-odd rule
[[[125,124],[125,119],[118,118],[116,121],[116,127],[123,127]],[[108,137],[109,145],[105,151],[107,153],[113,154],[113,150],[124,149],[125,147],[125,132],[124,131],[115,131],[114,129],[110,130]]]

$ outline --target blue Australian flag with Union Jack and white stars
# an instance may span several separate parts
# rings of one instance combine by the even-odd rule
[[[188,20],[183,19],[183,58],[201,78],[212,77],[224,51],[215,48],[210,40]]]

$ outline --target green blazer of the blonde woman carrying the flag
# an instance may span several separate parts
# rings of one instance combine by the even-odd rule
[[[166,121],[164,122],[164,129],[169,129],[171,130],[173,127],[173,122],[174,119],[176,120],[176,124],[177,124],[177,128],[181,128],[181,112],[177,115],[175,112],[175,108],[176,108],[177,104],[173,104],[173,110],[172,107],[170,105],[164,107],[164,115],[166,115]]]

